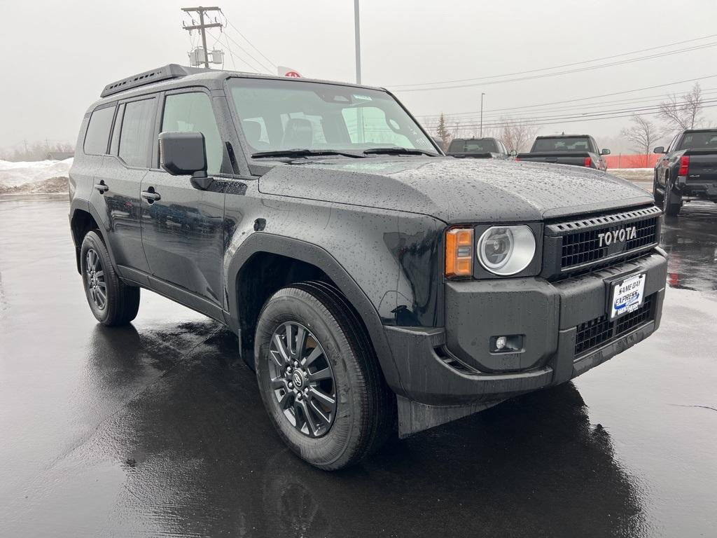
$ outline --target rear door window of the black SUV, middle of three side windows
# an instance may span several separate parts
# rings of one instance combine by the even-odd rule
[[[154,99],[126,103],[120,131],[120,159],[128,166],[147,168],[152,150]]]

